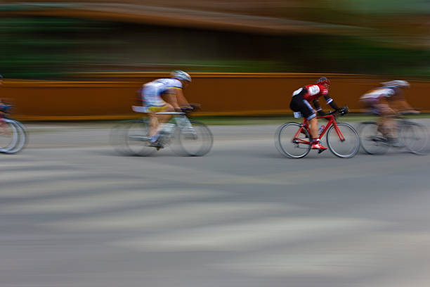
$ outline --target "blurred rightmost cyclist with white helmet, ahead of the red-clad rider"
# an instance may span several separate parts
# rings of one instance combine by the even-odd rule
[[[379,116],[378,130],[393,145],[397,143],[397,133],[394,127],[394,118],[398,113],[419,113],[414,110],[403,98],[403,91],[410,84],[403,80],[382,82],[382,87],[368,91],[360,97],[365,108]]]

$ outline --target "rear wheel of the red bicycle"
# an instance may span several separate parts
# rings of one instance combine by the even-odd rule
[[[299,132],[301,129],[301,132]],[[298,133],[299,132],[299,133]],[[297,122],[287,122],[275,133],[275,146],[289,158],[303,158],[311,151],[311,136]]]

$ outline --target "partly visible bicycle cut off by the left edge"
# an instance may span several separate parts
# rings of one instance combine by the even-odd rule
[[[18,120],[6,116],[11,108],[0,104],[0,153],[18,153],[27,145],[27,129]]]

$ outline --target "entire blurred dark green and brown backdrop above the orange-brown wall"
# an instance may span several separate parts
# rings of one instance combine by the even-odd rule
[[[430,76],[426,0],[1,1],[1,74],[116,71]]]

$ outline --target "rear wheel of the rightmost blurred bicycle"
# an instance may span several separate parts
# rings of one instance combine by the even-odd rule
[[[358,128],[360,144],[365,153],[382,155],[389,149],[385,137],[378,131],[377,122],[362,122]]]

